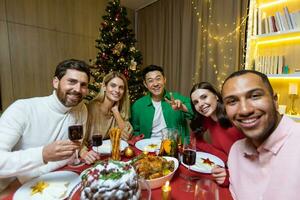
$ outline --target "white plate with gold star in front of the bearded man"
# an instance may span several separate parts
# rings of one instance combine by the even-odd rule
[[[44,181],[49,185],[42,193],[31,195],[31,187],[39,181]],[[70,171],[55,171],[44,174],[38,178],[32,179],[24,183],[14,194],[13,200],[61,200],[68,197],[72,189],[80,182],[79,175]],[[66,185],[66,188],[64,188]],[[65,191],[66,190],[66,191]],[[64,194],[62,194],[64,192]],[[61,195],[58,197],[58,195]]]

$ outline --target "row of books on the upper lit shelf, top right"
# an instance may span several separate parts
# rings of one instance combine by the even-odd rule
[[[253,35],[300,30],[300,10],[290,13],[288,7],[284,6],[282,11],[267,16],[260,8],[256,8],[253,14]]]

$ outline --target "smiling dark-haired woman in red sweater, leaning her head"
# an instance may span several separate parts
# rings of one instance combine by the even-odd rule
[[[232,144],[244,135],[232,126],[226,116],[221,94],[210,83],[195,84],[190,97],[195,113],[190,126],[196,132],[197,149],[214,154],[226,163]],[[205,132],[209,134],[210,143],[203,139]]]

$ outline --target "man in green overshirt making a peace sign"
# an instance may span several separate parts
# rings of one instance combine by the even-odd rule
[[[148,94],[131,107],[134,135],[145,138],[161,137],[164,128],[176,128],[183,136],[189,135],[187,119],[193,118],[190,99],[165,89],[166,78],[162,67],[149,65],[143,70]]]

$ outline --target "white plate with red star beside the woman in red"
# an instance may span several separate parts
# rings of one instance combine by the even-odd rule
[[[204,164],[203,163],[203,159],[209,159],[210,161],[214,162],[214,164],[209,165],[209,164]],[[186,168],[188,168],[189,166],[184,164],[183,162],[181,162],[183,164],[183,166],[185,166]],[[219,165],[221,167],[224,167],[224,162],[218,158],[217,156],[214,156],[210,153],[205,153],[205,152],[197,152],[196,154],[196,164],[195,165],[191,165],[190,169],[196,172],[201,172],[201,173],[207,173],[210,174],[212,168],[214,167],[214,165]]]

